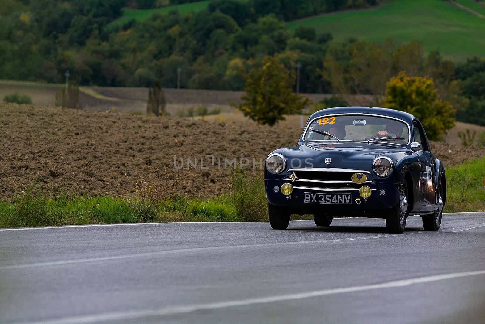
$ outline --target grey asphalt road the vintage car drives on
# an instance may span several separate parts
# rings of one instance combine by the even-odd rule
[[[485,213],[0,230],[1,323],[484,323]]]

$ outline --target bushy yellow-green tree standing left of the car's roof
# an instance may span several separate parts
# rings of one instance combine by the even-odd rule
[[[244,78],[245,94],[241,97],[243,102],[237,107],[244,116],[260,124],[273,126],[285,119],[283,115],[295,114],[311,103],[307,98],[292,93],[295,72],[290,73],[275,57],[265,57],[262,67],[253,68],[249,75],[244,74]]]

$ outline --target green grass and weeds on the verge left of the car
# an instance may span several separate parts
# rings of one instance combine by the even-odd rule
[[[66,192],[26,190],[0,202],[0,227],[113,224],[131,222],[260,222],[267,221],[261,174],[234,171],[232,190],[217,198],[155,196],[82,197]]]

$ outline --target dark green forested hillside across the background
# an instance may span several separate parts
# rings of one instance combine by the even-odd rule
[[[181,2],[189,1],[170,4]],[[300,67],[300,92],[370,94],[376,104],[388,80],[400,71],[431,77],[440,99],[457,110],[458,120],[485,125],[484,59],[455,63],[437,49],[426,53],[417,41],[335,41],[323,28],[295,28],[294,23],[290,32],[286,21],[380,4],[293,2],[212,0],[198,12],[170,10],[143,22],[112,24],[123,8],[161,2],[5,0],[0,8],[0,79],[62,83],[69,70],[71,80],[81,85],[150,86],[159,79],[163,87],[177,87],[179,70],[182,88],[242,90],[244,73],[259,67],[264,57],[275,56],[290,70]]]

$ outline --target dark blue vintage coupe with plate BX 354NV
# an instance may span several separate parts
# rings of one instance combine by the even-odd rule
[[[409,214],[437,231],[446,176],[420,121],[397,110],[339,107],[308,119],[298,144],[273,151],[264,172],[271,227],[291,214],[313,214],[317,226],[334,216],[386,219],[402,233]]]

